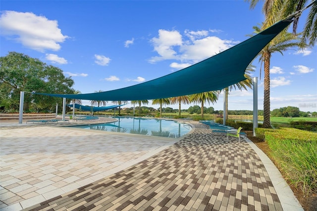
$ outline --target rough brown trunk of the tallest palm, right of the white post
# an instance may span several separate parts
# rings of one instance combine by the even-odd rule
[[[269,79],[270,54],[264,57],[264,128],[271,128],[270,123],[270,79]]]

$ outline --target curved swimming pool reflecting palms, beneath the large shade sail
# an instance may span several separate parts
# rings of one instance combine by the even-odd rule
[[[189,124],[173,120],[141,117],[113,117],[111,123],[72,126],[89,130],[103,130],[118,133],[132,133],[148,136],[179,138],[192,130]]]

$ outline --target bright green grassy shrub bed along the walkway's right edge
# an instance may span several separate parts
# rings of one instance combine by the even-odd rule
[[[259,130],[286,180],[305,195],[317,193],[317,133],[295,128]],[[257,134],[258,136],[258,134]]]

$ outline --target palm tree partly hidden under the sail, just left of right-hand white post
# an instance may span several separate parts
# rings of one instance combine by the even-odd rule
[[[229,95],[229,91],[231,92],[232,89],[234,89],[234,90],[239,89],[240,91],[242,91],[242,89],[247,90],[247,87],[252,89],[253,81],[252,81],[252,78],[250,76],[250,72],[254,72],[254,71],[255,71],[255,66],[252,64],[249,64],[246,71],[245,71],[245,74],[244,74],[244,77],[246,77],[247,79],[244,81],[240,81],[239,83],[232,84],[231,86],[225,88],[225,90],[226,90],[226,92],[225,92],[226,93],[225,94],[226,119],[228,119],[228,95]]]

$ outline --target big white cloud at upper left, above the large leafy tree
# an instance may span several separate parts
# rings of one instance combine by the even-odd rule
[[[58,43],[68,38],[61,33],[56,20],[32,12],[3,11],[0,22],[2,36],[39,52],[58,51]]]

